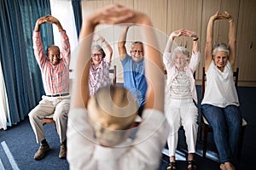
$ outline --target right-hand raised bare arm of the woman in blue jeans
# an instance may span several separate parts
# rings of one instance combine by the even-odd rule
[[[225,11],[227,15],[227,20],[229,20],[230,30],[229,30],[229,48],[230,48],[230,56],[229,61],[232,69],[234,70],[235,61],[236,61],[236,28],[235,23],[232,16]]]

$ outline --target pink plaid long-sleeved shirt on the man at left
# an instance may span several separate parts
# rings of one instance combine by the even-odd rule
[[[70,44],[66,31],[61,31],[61,60],[52,65],[44,54],[40,31],[33,31],[34,54],[40,67],[46,95],[69,92]]]

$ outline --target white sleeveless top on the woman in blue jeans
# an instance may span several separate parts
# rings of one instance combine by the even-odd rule
[[[227,105],[240,105],[236,93],[233,71],[229,61],[222,72],[218,70],[212,60],[206,75],[207,85],[201,105],[210,104],[221,108]]]

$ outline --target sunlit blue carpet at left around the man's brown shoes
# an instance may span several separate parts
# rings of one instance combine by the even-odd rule
[[[41,161],[33,159],[34,153],[38,150],[38,144],[28,118],[6,131],[1,130],[0,170],[69,169],[67,160],[58,157],[60,144],[54,124],[45,124],[44,130],[51,150]]]

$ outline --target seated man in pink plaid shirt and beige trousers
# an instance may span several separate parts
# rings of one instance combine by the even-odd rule
[[[47,48],[44,54],[44,46],[40,36],[40,26],[43,24],[55,24],[61,34],[61,50],[55,45]],[[33,31],[34,54],[42,73],[45,95],[39,104],[29,113],[30,123],[35,133],[37,143],[40,143],[34,159],[41,160],[49,151],[49,144],[44,135],[42,119],[54,113],[53,119],[57,133],[60,137],[61,149],[59,158],[66,158],[67,155],[67,113],[69,111],[69,63],[70,44],[66,31],[55,17],[46,15],[37,20]]]

